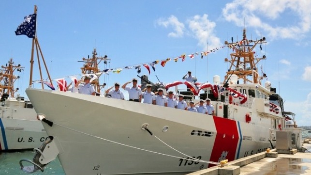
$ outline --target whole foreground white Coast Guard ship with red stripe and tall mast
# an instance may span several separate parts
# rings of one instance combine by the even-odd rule
[[[215,77],[215,84],[205,84],[205,93],[197,96],[211,99],[214,116],[93,95],[27,89],[51,136],[41,147],[44,161],[34,158],[34,167],[42,170],[48,159],[58,156],[66,175],[184,175],[224,159],[274,148],[276,131],[284,129],[284,109],[271,83],[261,83],[267,76],[260,75],[256,65],[266,56],[255,58],[254,48],[263,43],[264,37],[248,40],[245,30],[241,41],[225,42],[233,49],[231,58],[225,59],[231,64],[225,81],[220,83]],[[179,93],[193,98],[192,92]]]

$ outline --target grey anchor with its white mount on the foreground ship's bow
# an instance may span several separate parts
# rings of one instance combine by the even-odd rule
[[[59,150],[54,142],[53,136],[49,136],[40,148],[33,149],[36,154],[34,155],[32,161],[30,159],[21,159],[19,160],[20,169],[26,173],[34,173],[38,170],[44,172],[44,167],[51,162],[52,160],[56,159],[57,155],[59,154]],[[22,162],[26,161],[31,163],[30,166],[23,166]]]

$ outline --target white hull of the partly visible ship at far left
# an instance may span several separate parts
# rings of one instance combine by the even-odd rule
[[[34,109],[14,99],[7,104],[0,106],[0,152],[40,147],[47,134]]]

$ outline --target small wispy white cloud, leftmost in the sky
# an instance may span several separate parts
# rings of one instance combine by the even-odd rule
[[[159,26],[163,26],[165,28],[168,28],[169,26],[173,27],[173,30],[175,32],[168,33],[169,37],[182,37],[185,30],[185,25],[178,21],[178,18],[176,16],[170,16],[168,18],[160,18],[156,21],[156,23]]]

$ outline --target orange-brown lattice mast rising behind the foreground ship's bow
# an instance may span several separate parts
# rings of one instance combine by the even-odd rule
[[[100,84],[99,78],[103,74],[103,71],[100,70],[99,64],[104,61],[104,64],[106,64],[107,60],[110,60],[107,58],[107,55],[104,57],[97,57],[96,48],[94,48],[92,52],[91,58],[82,58],[85,64],[83,67],[81,67],[81,73],[82,74],[95,74],[98,78],[96,80],[93,80],[91,84],[93,84],[95,92],[100,93],[101,89],[105,86],[105,83],[103,85]]]

